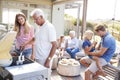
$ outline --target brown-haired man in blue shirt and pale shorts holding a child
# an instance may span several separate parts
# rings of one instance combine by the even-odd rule
[[[114,55],[116,42],[113,36],[106,31],[105,25],[97,25],[95,31],[101,37],[101,48],[97,52],[85,51],[85,53],[91,56],[97,56],[101,66],[104,66],[110,62],[112,56]],[[83,65],[90,64],[85,71],[85,80],[93,80],[91,76],[100,74],[95,61],[88,57],[84,57],[80,62]]]

